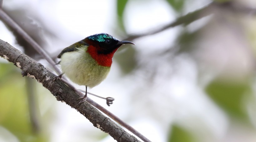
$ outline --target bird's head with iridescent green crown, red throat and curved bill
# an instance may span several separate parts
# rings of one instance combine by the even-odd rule
[[[86,52],[88,52],[98,64],[103,66],[111,66],[113,55],[121,45],[135,45],[131,41],[121,41],[106,33],[88,36],[83,41],[88,44]]]

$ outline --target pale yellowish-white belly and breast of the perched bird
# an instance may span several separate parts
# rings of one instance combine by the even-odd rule
[[[72,82],[89,88],[100,84],[110,71],[110,67],[98,65],[86,48],[64,53],[60,65],[62,73]]]

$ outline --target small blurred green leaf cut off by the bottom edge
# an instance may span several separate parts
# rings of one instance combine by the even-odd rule
[[[172,125],[169,132],[168,142],[195,142],[196,139],[189,130],[185,130],[179,125]]]

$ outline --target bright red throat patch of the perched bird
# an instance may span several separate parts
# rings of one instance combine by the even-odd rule
[[[113,56],[118,48],[110,52],[109,54],[98,54],[96,47],[90,45],[86,52],[91,55],[92,59],[102,66],[111,67]]]

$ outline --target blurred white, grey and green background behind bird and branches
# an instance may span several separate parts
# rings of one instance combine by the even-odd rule
[[[136,46],[122,46],[89,90],[114,104],[89,97],[151,141],[256,141],[255,0],[4,0],[3,9],[52,58],[96,33],[130,38]],[[147,35],[196,10],[199,20]],[[53,70],[2,21],[0,39]],[[115,140],[0,59],[0,141]]]

